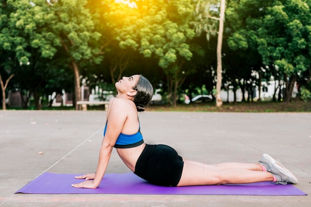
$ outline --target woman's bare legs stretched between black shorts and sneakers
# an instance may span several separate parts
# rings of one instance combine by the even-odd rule
[[[177,186],[220,185],[273,181],[273,175],[263,172],[259,163],[221,163],[206,165],[184,160]]]

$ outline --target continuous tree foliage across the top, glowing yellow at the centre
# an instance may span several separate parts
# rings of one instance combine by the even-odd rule
[[[219,81],[219,0],[2,0],[2,100],[17,88],[24,107],[33,97],[39,109],[62,88],[80,100],[81,79],[104,87],[134,73],[162,87],[173,105],[179,92],[212,93],[217,82],[249,100],[255,85],[278,80],[275,92],[285,89],[286,101],[297,82],[308,97],[311,0],[226,2]]]

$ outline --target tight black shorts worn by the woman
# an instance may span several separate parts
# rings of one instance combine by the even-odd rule
[[[135,174],[159,186],[177,186],[184,162],[170,146],[146,144],[137,160]]]

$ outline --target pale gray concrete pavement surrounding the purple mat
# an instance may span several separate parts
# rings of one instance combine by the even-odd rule
[[[310,207],[310,196],[14,194],[43,172],[94,172],[105,111],[0,111],[0,207]],[[310,113],[142,112],[146,143],[204,163],[280,160],[311,193]],[[130,170],[113,150],[106,173]]]

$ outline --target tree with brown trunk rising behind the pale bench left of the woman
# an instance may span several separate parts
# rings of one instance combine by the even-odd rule
[[[48,29],[57,37],[55,43],[62,46],[74,72],[76,102],[81,100],[80,64],[89,60],[95,64],[102,61],[101,46],[97,45],[101,34],[95,30],[86,4],[87,0],[59,0],[49,6],[47,12]],[[81,109],[77,104],[75,107]]]

